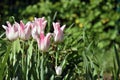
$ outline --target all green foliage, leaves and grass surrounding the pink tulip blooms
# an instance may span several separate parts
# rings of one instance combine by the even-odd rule
[[[104,79],[106,73],[114,80],[119,79],[119,9],[117,0],[43,0],[19,8],[19,16],[13,13],[17,20],[32,21],[34,17],[47,16],[46,32],[53,32],[51,23],[57,19],[66,24],[64,42],[51,44],[42,56],[36,41],[10,42],[3,38],[3,33],[0,36],[0,80],[39,80],[42,75],[46,80],[97,80]],[[8,13],[6,9],[5,14]],[[9,21],[14,22],[11,17]],[[56,64],[62,66],[61,76],[55,73]]]

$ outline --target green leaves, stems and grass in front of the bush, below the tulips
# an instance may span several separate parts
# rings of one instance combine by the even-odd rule
[[[0,67],[1,79],[36,80],[40,79],[41,74],[43,74],[42,70],[44,70],[43,76],[45,79],[96,80],[103,78],[104,72],[112,72],[111,68],[113,68],[115,77],[118,74],[116,73],[118,67],[116,67],[115,59],[115,63],[112,63],[114,49],[105,51],[105,49],[99,48],[98,41],[93,40],[91,34],[88,35],[87,33],[86,29],[71,25],[65,30],[64,42],[51,44],[49,51],[44,53],[44,56],[38,50],[36,41],[32,39],[29,41],[17,39],[12,43],[1,39],[1,44],[4,43],[1,48],[9,45],[0,57],[2,65]],[[115,51],[118,54],[116,48]],[[108,55],[109,58],[107,58]],[[44,59],[44,63],[42,59]],[[55,74],[56,60],[57,65],[62,66],[61,76]],[[41,66],[43,66],[42,69]]]

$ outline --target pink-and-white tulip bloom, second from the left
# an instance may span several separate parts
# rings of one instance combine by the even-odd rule
[[[23,40],[28,40],[31,35],[31,30],[30,30],[31,23],[27,22],[25,25],[22,21],[20,21],[20,26],[19,26],[19,37]]]

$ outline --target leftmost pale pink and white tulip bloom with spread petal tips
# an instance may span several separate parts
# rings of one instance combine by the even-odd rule
[[[17,22],[15,22],[13,25],[10,24],[10,22],[7,21],[7,26],[2,25],[2,27],[6,30],[6,37],[9,40],[15,40],[18,38],[19,36],[19,32],[18,32],[18,26],[19,24]]]

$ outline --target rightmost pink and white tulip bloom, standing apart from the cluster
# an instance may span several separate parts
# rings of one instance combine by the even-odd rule
[[[56,22],[56,23],[53,23],[53,28],[54,28],[54,41],[62,42],[64,38],[63,31],[65,28],[65,25],[60,27],[60,23]]]

